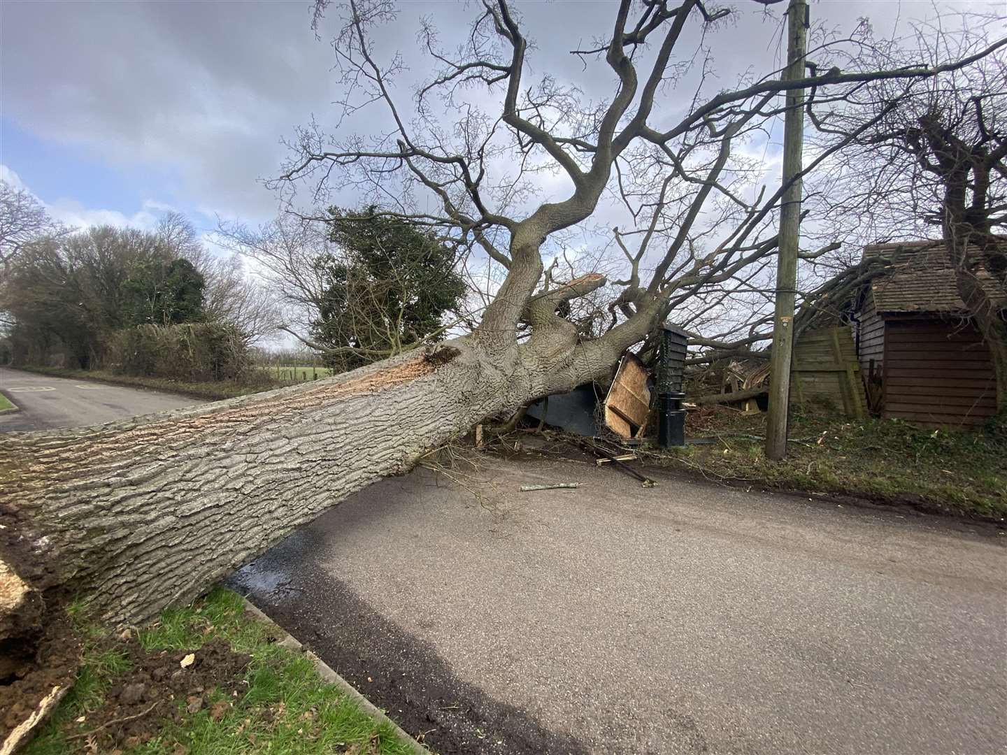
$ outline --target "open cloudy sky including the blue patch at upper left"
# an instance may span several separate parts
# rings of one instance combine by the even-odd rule
[[[538,42],[535,72],[577,77],[580,63],[567,50],[604,34],[614,3],[514,5]],[[715,48],[725,85],[778,55],[772,24],[755,18],[761,6],[734,5],[739,20]],[[936,9],[970,6],[1003,4],[813,0],[812,13],[843,31],[867,16],[889,34]],[[418,53],[417,20],[430,16],[449,37],[471,14],[453,0],[405,2],[381,52],[401,51],[418,77],[429,64]],[[310,20],[304,0],[3,0],[0,177],[19,180],[78,224],[147,225],[166,207],[204,230],[217,214],[269,217],[276,202],[259,179],[276,175],[280,139],[312,116],[331,120],[338,95],[332,50]]]

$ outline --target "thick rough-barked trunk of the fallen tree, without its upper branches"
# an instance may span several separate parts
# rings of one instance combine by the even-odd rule
[[[621,350],[490,354],[459,339],[309,385],[11,435],[0,441],[5,550],[28,544],[48,565],[36,587],[139,623],[484,417],[603,375]]]

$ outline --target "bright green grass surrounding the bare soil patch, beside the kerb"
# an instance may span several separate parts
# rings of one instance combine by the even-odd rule
[[[101,642],[93,627],[86,627],[86,636],[77,683],[24,749],[25,755],[77,752],[66,741],[63,726],[101,706],[116,678],[129,670],[126,654],[109,649],[108,640]],[[323,682],[305,655],[271,642],[267,627],[245,615],[242,599],[233,592],[214,589],[191,606],[166,611],[160,621],[139,632],[140,644],[148,651],[198,652],[213,639],[224,639],[236,651],[252,656],[245,671],[247,692],[236,701],[208,691],[203,710],[185,714],[181,723],[164,720],[157,736],[127,753],[168,755],[179,744],[192,755],[412,752],[393,727],[379,724],[338,688]],[[214,721],[208,709],[224,700],[234,705]],[[269,716],[264,715],[267,711]]]

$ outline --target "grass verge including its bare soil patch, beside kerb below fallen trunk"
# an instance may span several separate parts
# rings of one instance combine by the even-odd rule
[[[308,657],[272,641],[268,628],[245,613],[241,597],[223,588],[191,606],[166,611],[160,621],[131,637],[110,636],[89,626],[82,633],[84,655],[77,682],[24,749],[25,755],[412,752],[393,727],[376,722],[324,683]],[[151,701],[148,693],[138,703],[143,708],[156,704],[146,718],[129,720],[120,715],[122,708],[113,707],[126,700],[137,680],[146,680],[148,690],[156,687],[145,669],[154,668],[154,680],[167,678],[158,673],[157,663],[175,669],[171,681],[186,673],[178,669],[176,658],[188,653],[195,658],[191,668],[201,668],[202,675],[182,681],[183,687],[175,689],[213,678],[222,684],[188,690],[189,697],[182,692]],[[229,658],[238,675],[214,676],[212,668],[205,668],[211,661],[203,658]],[[241,658],[237,665],[235,658]],[[232,682],[233,691],[223,684],[225,678]]]

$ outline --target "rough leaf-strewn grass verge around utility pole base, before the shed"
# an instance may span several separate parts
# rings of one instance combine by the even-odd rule
[[[787,456],[763,451],[765,415],[726,407],[690,412],[688,435],[714,440],[649,457],[717,480],[852,495],[937,512],[1007,517],[1007,427],[973,432],[921,428],[898,420],[792,417]]]

